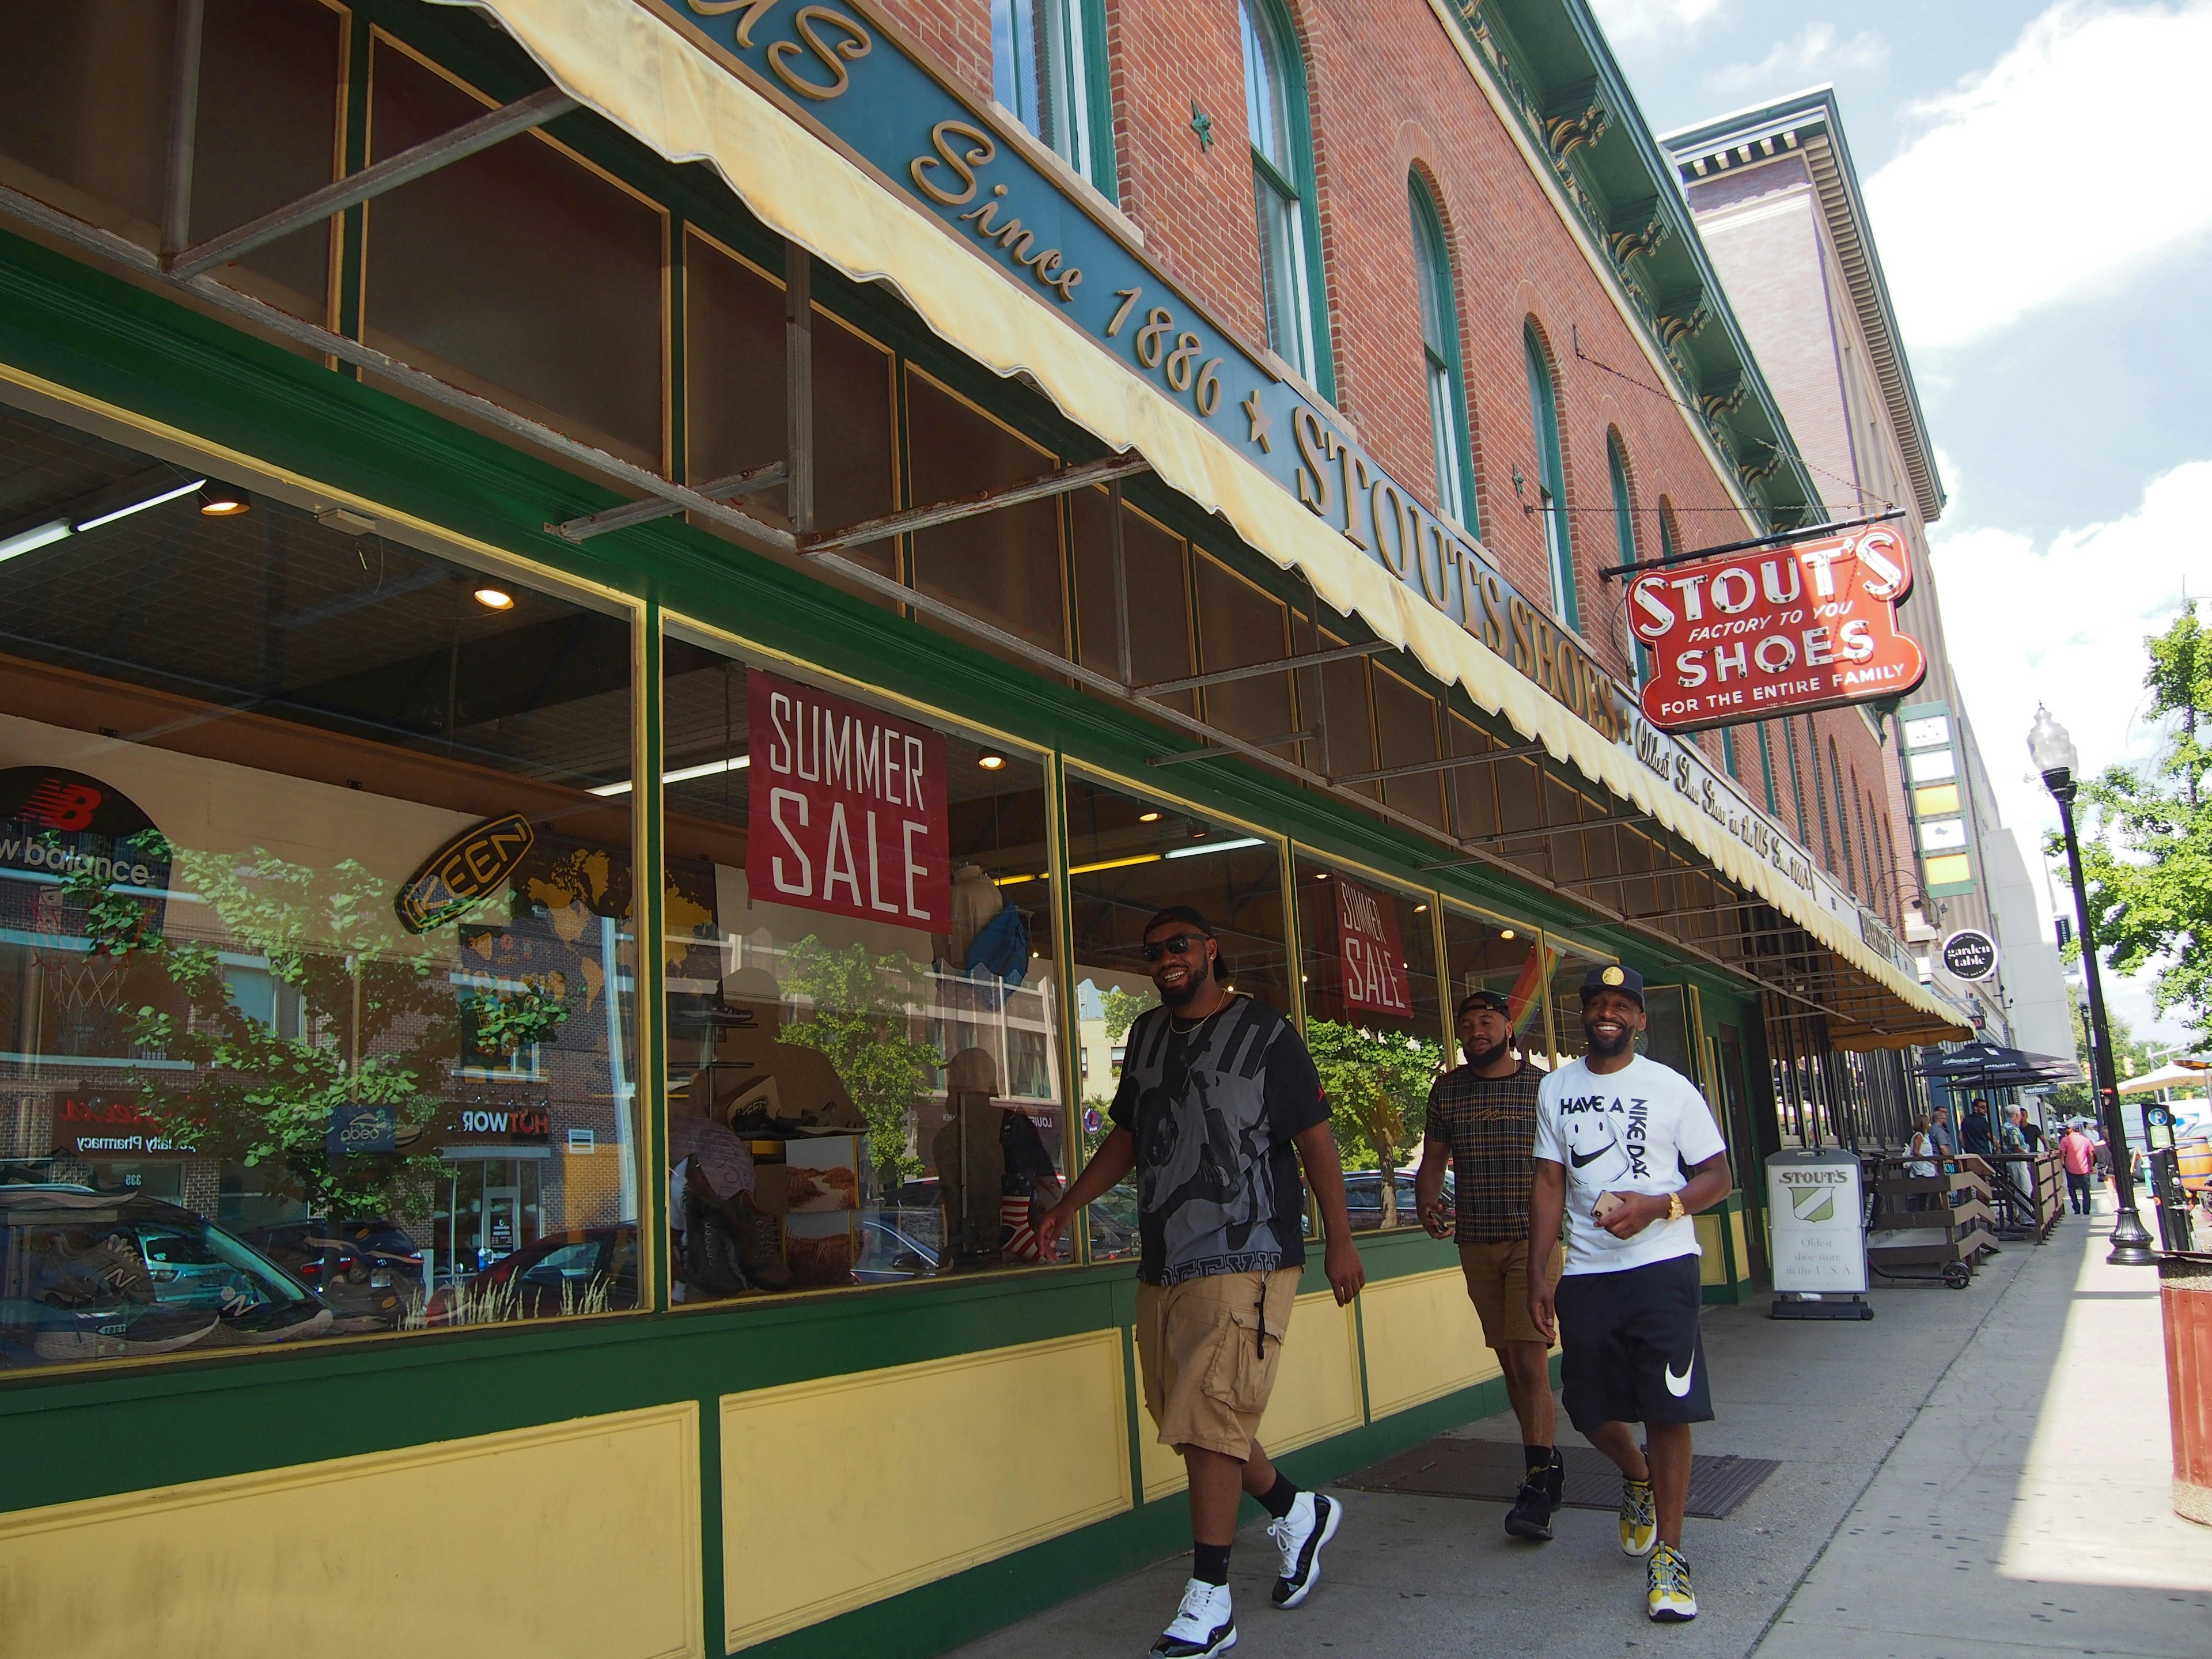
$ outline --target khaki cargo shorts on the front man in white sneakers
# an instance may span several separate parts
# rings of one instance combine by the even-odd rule
[[[1252,1455],[1296,1296],[1296,1267],[1137,1285],[1137,1374],[1159,1444]]]

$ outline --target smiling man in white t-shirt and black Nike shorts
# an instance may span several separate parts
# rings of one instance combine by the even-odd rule
[[[1681,1555],[1690,1425],[1712,1420],[1690,1217],[1728,1197],[1728,1144],[1697,1086],[1635,1051],[1644,1026],[1644,975],[1590,969],[1588,1053],[1537,1093],[1528,1259],[1551,1254],[1564,1221],[1566,1272],[1557,1292],[1528,1281],[1528,1316],[1546,1340],[1557,1329],[1568,1420],[1619,1464],[1621,1551],[1650,1555],[1644,1606],[1679,1624],[1697,1617]]]

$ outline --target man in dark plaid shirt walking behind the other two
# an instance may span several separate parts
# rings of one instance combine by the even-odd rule
[[[1506,1533],[1544,1542],[1559,1506],[1566,1464],[1553,1447],[1551,1343],[1528,1318],[1528,1190],[1535,1183],[1535,1091],[1544,1073],[1517,1053],[1513,1009],[1495,991],[1471,991],[1455,1011],[1467,1064],[1429,1091],[1413,1201],[1438,1239],[1458,1239],[1467,1296],[1482,1340],[1498,1352],[1506,1398],[1522,1425],[1526,1478]],[[1444,1166],[1453,1170],[1458,1217],[1444,1212]],[[1544,1263],[1559,1279],[1559,1252]]]

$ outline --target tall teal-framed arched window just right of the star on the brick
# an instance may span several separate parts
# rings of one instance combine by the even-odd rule
[[[1245,122],[1252,131],[1252,208],[1259,215],[1267,345],[1323,396],[1334,396],[1305,62],[1279,0],[1239,0],[1237,13],[1243,24]]]

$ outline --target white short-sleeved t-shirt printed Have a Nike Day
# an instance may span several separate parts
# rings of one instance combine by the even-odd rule
[[[1617,1274],[1703,1254],[1690,1217],[1615,1239],[1590,1214],[1604,1192],[1679,1192],[1683,1164],[1728,1150],[1688,1077],[1644,1055],[1606,1075],[1577,1060],[1551,1073],[1535,1102],[1535,1155],[1566,1166],[1566,1272]]]

